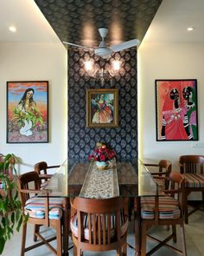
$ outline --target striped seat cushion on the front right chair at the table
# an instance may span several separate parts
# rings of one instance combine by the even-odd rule
[[[181,211],[178,201],[170,196],[159,197],[159,219],[178,219]],[[141,198],[141,218],[154,220],[155,218],[155,197]]]

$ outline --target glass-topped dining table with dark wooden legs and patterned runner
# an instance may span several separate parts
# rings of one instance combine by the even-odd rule
[[[47,186],[44,186],[37,196],[63,198],[63,255],[68,255],[70,198],[80,196],[106,199],[123,196],[127,200],[131,199],[129,201],[139,207],[142,196],[158,194],[159,187],[142,161],[133,163],[114,160],[105,169],[98,169],[94,161],[75,161],[70,164],[66,160],[56,169]],[[135,246],[130,246],[135,249],[135,255],[139,256],[140,216],[137,211],[135,214],[138,214],[135,223]]]

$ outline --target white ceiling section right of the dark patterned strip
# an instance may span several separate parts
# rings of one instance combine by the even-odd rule
[[[143,42],[204,42],[204,0],[163,0]]]

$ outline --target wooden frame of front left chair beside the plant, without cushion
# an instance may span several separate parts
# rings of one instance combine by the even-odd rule
[[[34,183],[35,188],[30,189],[29,183]],[[18,177],[18,193],[20,200],[22,202],[22,210],[24,210],[25,203],[30,198],[30,194],[34,196],[40,192],[41,180],[39,175],[33,171],[26,174],[22,174]],[[48,205],[49,205],[49,197],[44,198],[45,200],[45,218],[37,219],[29,217],[28,222],[34,224],[34,241],[37,239],[41,241],[35,243],[33,246],[26,247],[26,233],[27,233],[27,222],[22,223],[22,246],[21,246],[21,256],[24,256],[24,253],[29,250],[35,249],[38,246],[46,245],[48,248],[57,256],[62,255],[62,243],[61,243],[61,220],[49,220],[48,218]],[[56,230],[56,236],[49,238],[46,240],[41,236],[40,226],[52,226]],[[53,246],[49,244],[52,240],[57,240],[57,250],[54,249]]]

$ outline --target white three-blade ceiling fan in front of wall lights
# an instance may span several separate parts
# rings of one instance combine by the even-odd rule
[[[95,49],[94,48],[89,48],[89,47],[86,47],[86,46],[83,46],[83,45],[75,44],[75,43],[68,43],[68,42],[62,42],[62,43],[65,43],[65,44],[68,44],[68,45],[71,45],[71,46],[74,46],[74,47],[78,47],[80,49],[93,50],[94,54],[96,56],[100,56],[103,59],[110,58],[111,55],[112,55],[112,52],[118,52],[118,51],[123,50],[123,49],[128,49],[128,48],[131,48],[133,46],[137,46],[140,43],[139,40],[133,39],[133,40],[130,40],[130,41],[126,41],[124,43],[118,43],[116,45],[112,45],[110,47],[107,47],[106,43],[105,43],[105,36],[107,36],[107,33],[108,33],[107,29],[105,29],[105,28],[100,28],[99,29],[99,34],[100,34],[102,40],[99,43],[99,47],[97,47]]]

